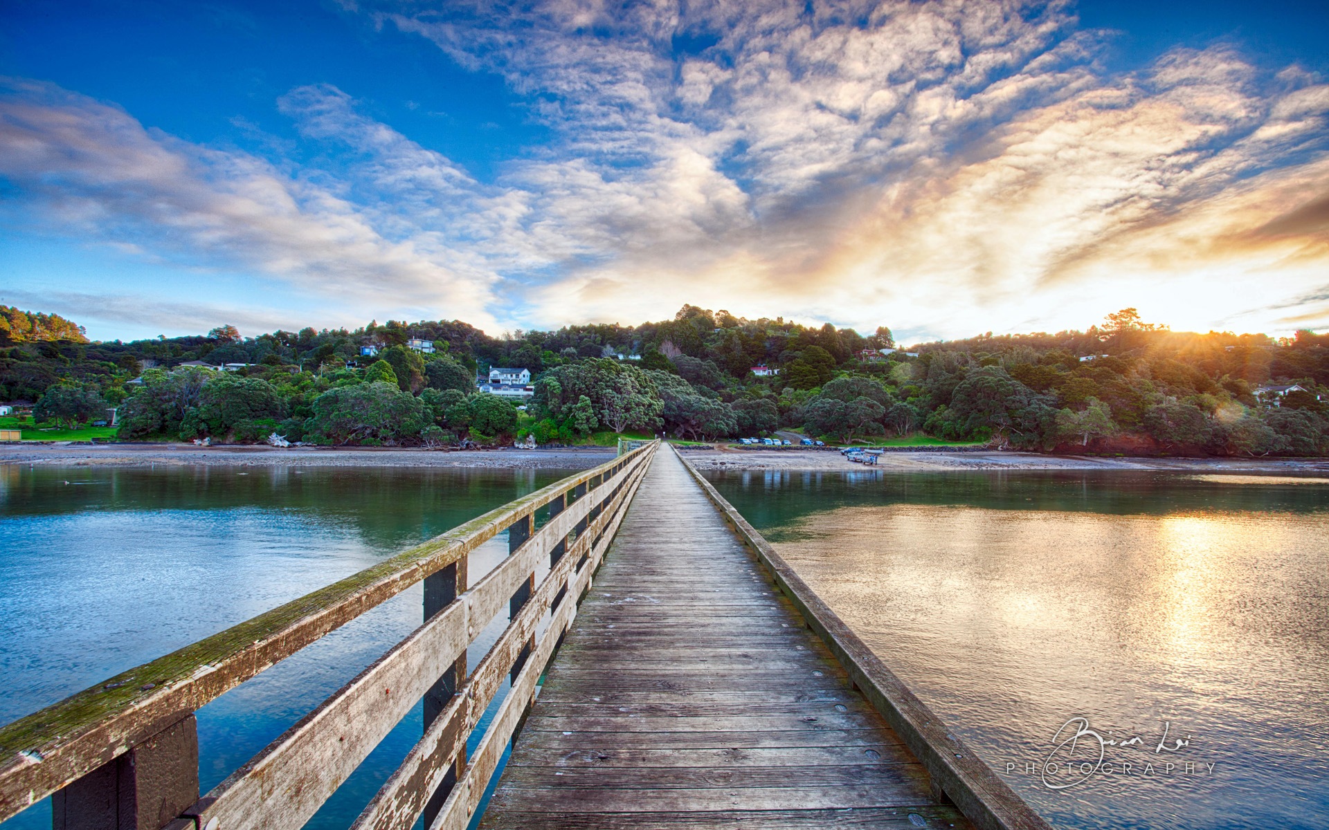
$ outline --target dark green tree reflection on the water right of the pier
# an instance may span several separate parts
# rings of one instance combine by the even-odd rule
[[[1115,515],[1329,509],[1326,485],[1231,485],[1152,470],[747,470],[708,473],[707,478],[758,529],[780,527],[823,510],[893,503]]]

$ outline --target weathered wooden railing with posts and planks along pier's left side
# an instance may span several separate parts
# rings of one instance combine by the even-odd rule
[[[56,830],[299,827],[424,699],[424,737],[355,829],[407,830],[421,815],[429,830],[465,827],[655,449],[565,478],[4,726],[0,821],[52,795]],[[468,555],[505,530],[509,556],[470,586]],[[421,580],[423,625],[198,797],[197,709]],[[508,627],[468,671],[466,647],[505,607]],[[468,758],[466,740],[505,676],[510,691]]]

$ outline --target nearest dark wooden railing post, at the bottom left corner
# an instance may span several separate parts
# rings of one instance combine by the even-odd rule
[[[51,797],[53,830],[161,830],[198,801],[198,722],[175,721]]]

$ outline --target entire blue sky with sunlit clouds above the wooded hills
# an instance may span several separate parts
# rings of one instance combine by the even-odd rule
[[[1329,327],[1329,4],[0,0],[0,303]]]

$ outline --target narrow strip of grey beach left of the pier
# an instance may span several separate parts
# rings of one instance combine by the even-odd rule
[[[291,466],[586,469],[614,448],[428,450],[421,448],[195,446],[191,444],[7,444],[0,463],[69,466]]]

